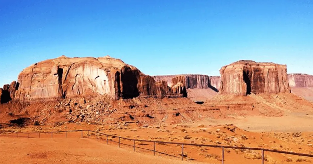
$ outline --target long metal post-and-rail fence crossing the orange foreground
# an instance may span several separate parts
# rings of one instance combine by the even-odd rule
[[[134,151],[135,148],[141,148],[141,149],[145,149],[145,150],[149,150],[149,151],[153,151],[153,154],[155,155],[155,153],[160,153],[160,154],[164,154],[164,155],[168,155],[168,156],[173,156],[170,154],[166,154],[163,152],[158,152],[156,151],[156,143],[160,143],[160,144],[174,144],[174,145],[181,145],[182,146],[182,160],[184,159],[184,146],[203,146],[203,147],[215,147],[215,148],[222,148],[222,164],[224,164],[224,149],[225,148],[230,148],[230,149],[244,149],[244,150],[258,150],[258,151],[262,151],[262,164],[264,164],[264,152],[268,151],[268,152],[275,152],[275,153],[282,153],[282,154],[290,154],[290,155],[297,155],[297,156],[306,156],[306,157],[313,157],[313,155],[311,154],[303,154],[303,153],[295,153],[295,152],[288,152],[288,151],[279,151],[279,150],[271,150],[271,149],[264,149],[264,148],[256,148],[256,147],[236,147],[236,146],[220,146],[220,145],[205,145],[205,144],[192,144],[192,143],[182,143],[182,142],[165,142],[165,141],[151,141],[151,140],[140,140],[140,139],[130,139],[130,138],[125,138],[125,137],[121,137],[121,136],[114,136],[114,135],[110,135],[110,134],[105,134],[105,133],[101,133],[101,132],[97,132],[97,131],[91,131],[91,130],[71,130],[71,131],[47,131],[47,132],[17,132],[17,138],[22,137],[19,136],[20,134],[27,134],[27,138],[29,137],[29,134],[38,134],[39,138],[40,138],[40,134],[41,133],[51,133],[51,138],[53,138],[53,133],[61,133],[61,132],[65,132],[65,137],[67,138],[67,132],[79,132],[81,131],[81,137],[83,137],[83,132],[84,131],[88,131],[88,138],[90,138],[90,132],[96,133],[96,137],[97,137],[97,141],[98,141],[98,134],[101,135],[105,135],[106,136],[106,144],[108,144],[108,136],[113,137],[113,138],[118,138],[119,141],[112,141],[115,143],[118,143],[118,146],[120,147],[120,144],[122,145],[127,145],[127,146],[132,146],[132,145],[128,145],[128,144],[124,144],[121,143],[120,140],[124,139],[124,140],[129,140],[129,141],[134,141],[133,147],[134,147]],[[7,132],[7,136],[9,137],[9,132],[11,133],[15,133],[12,131],[0,131],[1,133],[5,133]],[[24,138],[26,138],[26,136],[23,136]],[[32,138],[32,137],[31,137]],[[141,141],[141,142],[151,142],[154,145],[154,149],[146,149],[146,148],[142,148],[142,147],[138,147],[135,145],[135,141]],[[177,157],[177,156],[174,156]]]

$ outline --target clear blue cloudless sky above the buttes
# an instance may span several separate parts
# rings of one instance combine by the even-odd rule
[[[149,75],[219,75],[241,59],[313,74],[313,1],[0,0],[0,87],[61,55],[110,55]]]

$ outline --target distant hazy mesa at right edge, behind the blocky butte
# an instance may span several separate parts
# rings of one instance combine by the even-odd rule
[[[290,87],[313,87],[313,75],[310,74],[288,74]]]

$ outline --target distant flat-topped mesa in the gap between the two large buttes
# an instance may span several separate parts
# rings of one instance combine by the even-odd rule
[[[181,82],[184,86],[186,86],[186,89],[211,88],[218,91],[219,88],[219,79],[218,79],[219,76],[208,76],[202,74],[179,74],[179,75],[160,75],[153,77],[156,81],[161,80],[167,81],[167,84],[169,86]]]

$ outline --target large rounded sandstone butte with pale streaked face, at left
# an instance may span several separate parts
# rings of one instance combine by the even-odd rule
[[[25,68],[18,81],[0,89],[1,103],[9,100],[62,99],[110,95],[113,99],[187,97],[184,84],[172,87],[110,56],[48,59]]]

